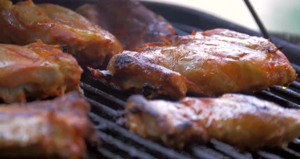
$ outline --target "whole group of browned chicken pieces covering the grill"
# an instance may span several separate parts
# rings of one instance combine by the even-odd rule
[[[76,12],[0,1],[1,157],[83,158],[85,141],[98,142],[80,95],[81,67],[108,87],[142,94],[128,100],[129,129],[167,146],[214,138],[256,150],[300,136],[300,111],[232,94],[295,80],[269,40],[226,29],[177,36],[162,16],[130,0]]]

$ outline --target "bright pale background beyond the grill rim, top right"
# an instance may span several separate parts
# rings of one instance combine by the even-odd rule
[[[257,30],[243,0],[142,0],[189,7]],[[300,34],[300,0],[250,0],[267,30]]]

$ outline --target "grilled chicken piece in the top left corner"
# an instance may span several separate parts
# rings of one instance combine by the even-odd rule
[[[0,1],[0,42],[26,45],[37,39],[68,45],[82,66],[106,65],[123,49],[113,35],[67,8],[30,0],[16,5]]]

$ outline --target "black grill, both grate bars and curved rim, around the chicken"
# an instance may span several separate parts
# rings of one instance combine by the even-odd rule
[[[84,3],[95,3],[96,0],[35,2],[55,3],[75,9]],[[199,11],[158,3],[145,3],[145,5],[171,21],[176,28],[176,33],[179,35],[191,33],[193,30],[227,28],[260,36],[259,33],[245,29],[242,26]],[[271,38],[274,43],[284,47],[283,52],[293,62],[292,66],[300,74],[300,55],[298,54],[300,47],[277,37],[271,36]],[[84,90],[85,98],[92,104],[92,111],[89,116],[95,123],[98,135],[104,143],[101,147],[89,147],[88,158],[300,158],[300,139],[289,143],[288,147],[284,149],[261,149],[256,152],[240,152],[234,147],[215,139],[212,139],[206,145],[191,145],[182,151],[164,147],[161,143],[154,143],[132,134],[122,126],[123,121],[119,117],[123,115],[129,94],[106,88],[101,83],[94,81],[87,71],[82,75],[81,81],[80,86]],[[282,107],[298,109],[300,108],[300,78],[298,77],[296,82],[293,82],[287,89],[273,86],[269,90],[253,95],[277,102]]]

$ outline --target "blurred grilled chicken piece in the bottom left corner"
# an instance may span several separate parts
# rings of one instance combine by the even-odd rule
[[[1,158],[83,158],[95,137],[89,104],[76,92],[48,101],[0,105]]]

